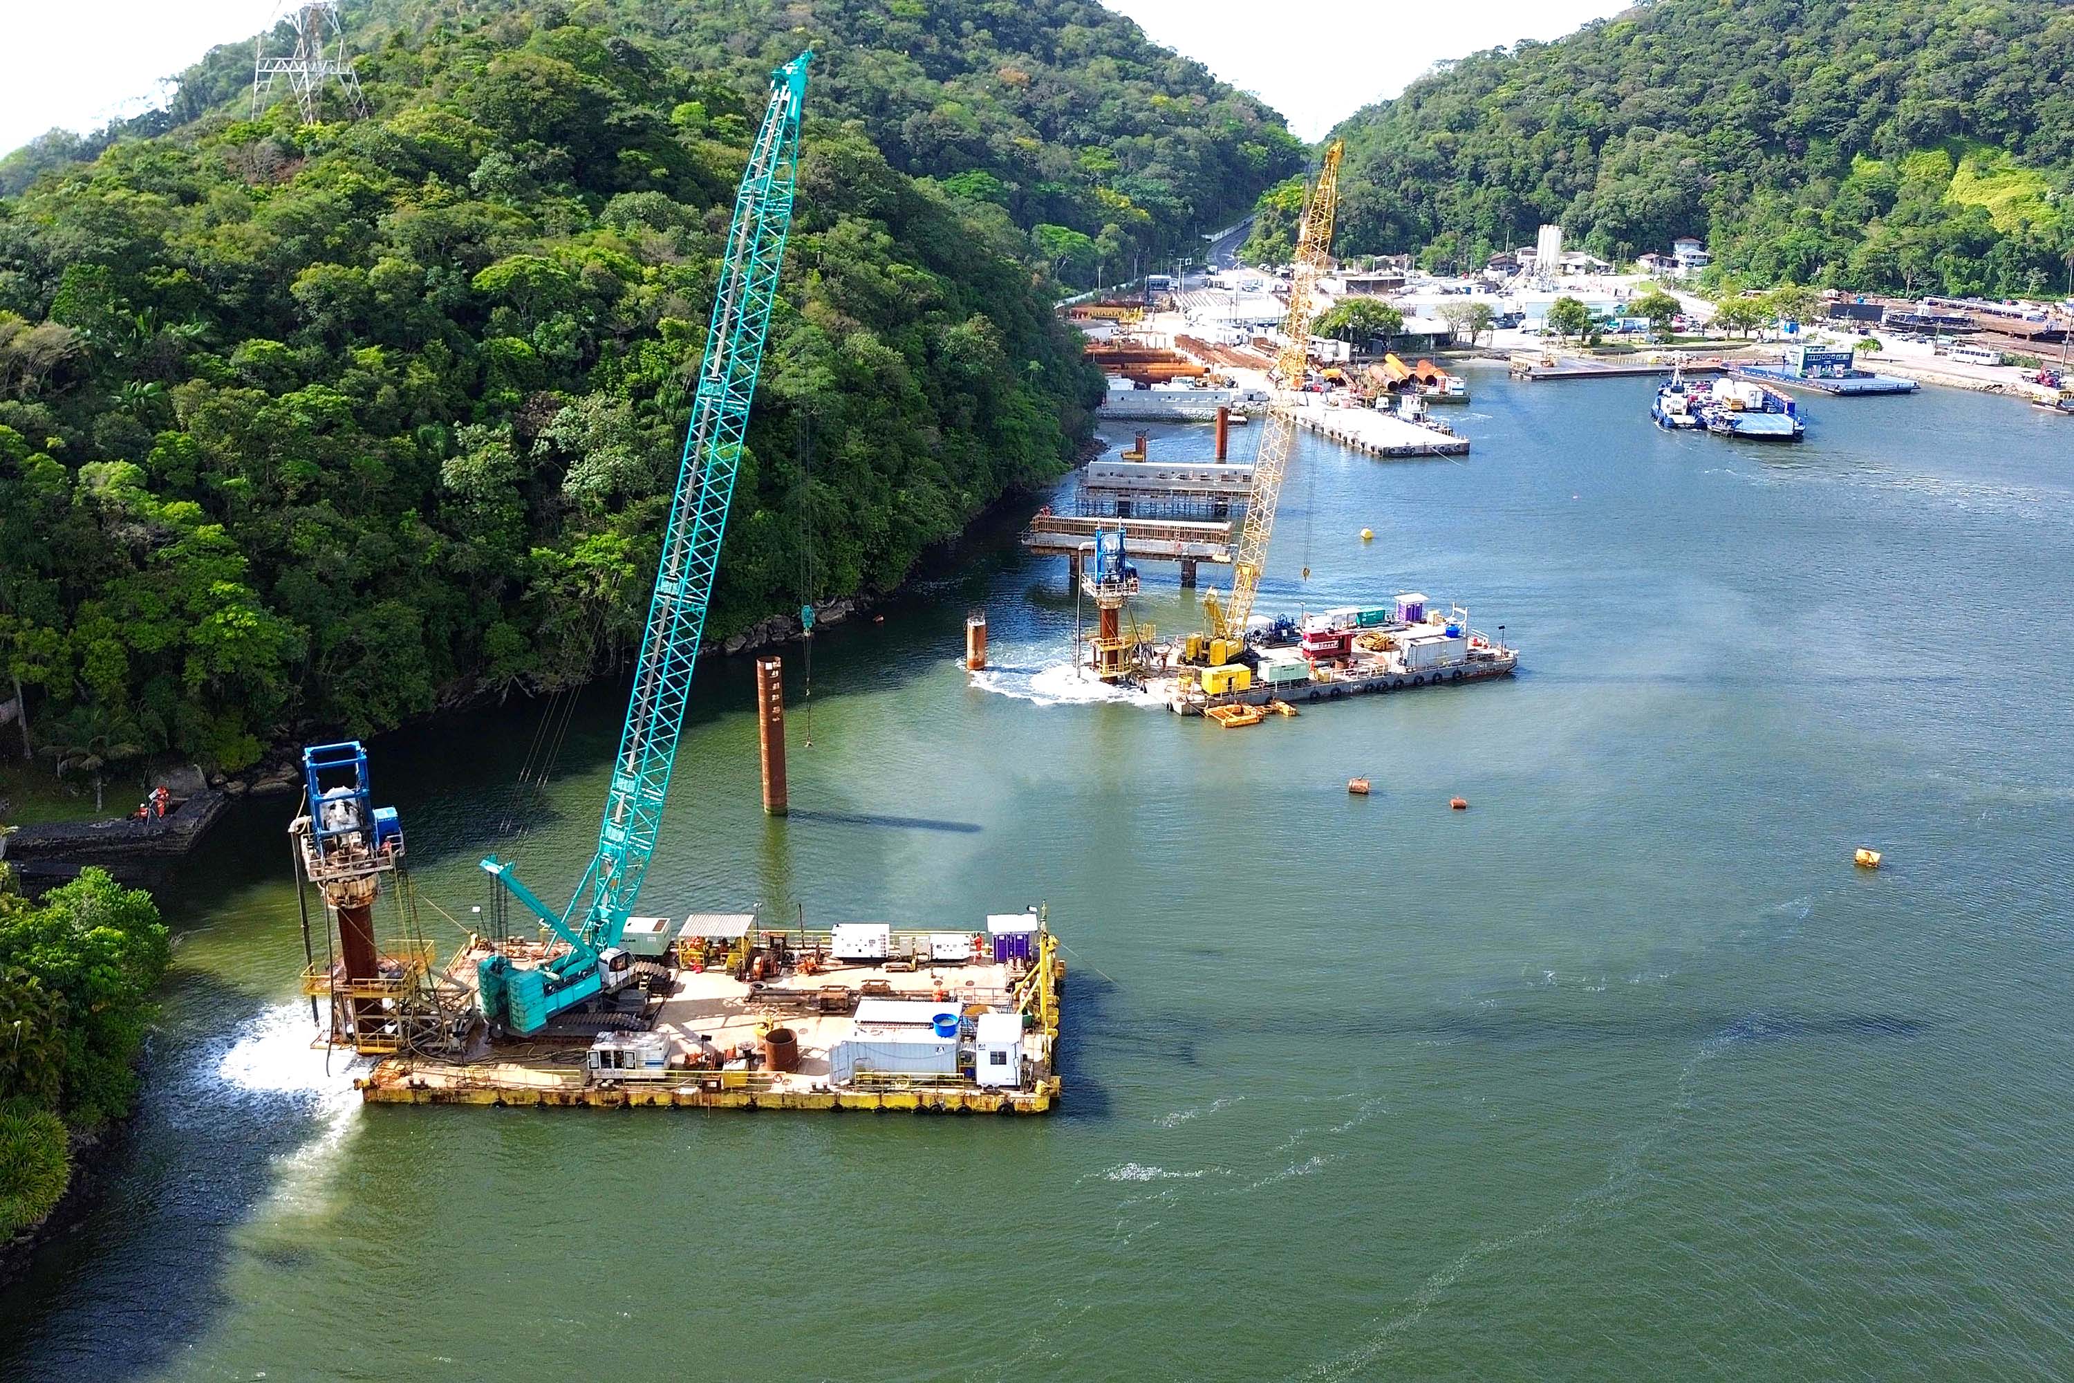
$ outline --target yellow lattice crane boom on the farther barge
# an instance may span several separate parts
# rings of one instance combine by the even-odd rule
[[[1253,614],[1253,595],[1261,585],[1261,570],[1267,566],[1267,539],[1276,531],[1276,500],[1282,498],[1282,475],[1290,464],[1290,450],[1296,446],[1296,396],[1302,390],[1305,371],[1311,359],[1311,321],[1317,317],[1317,280],[1325,274],[1325,255],[1332,251],[1332,216],[1340,205],[1340,141],[1325,149],[1325,164],[1319,168],[1317,187],[1311,189],[1302,209],[1302,232],[1296,238],[1296,267],[1290,274],[1290,305],[1282,315],[1282,352],[1276,357],[1273,402],[1267,406],[1267,425],[1261,431],[1261,450],[1253,458],[1253,489],[1246,491],[1246,520],[1238,531],[1238,556],[1232,562],[1232,593],[1217,599],[1215,591],[1203,597],[1203,614],[1209,620],[1211,641],[1242,641],[1246,637],[1246,616]],[[1211,661],[1224,661],[1209,653]]]

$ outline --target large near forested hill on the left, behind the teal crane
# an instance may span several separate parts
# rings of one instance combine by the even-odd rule
[[[896,46],[927,21],[942,52],[838,37],[815,68],[711,630],[888,589],[1056,475],[1099,377],[1029,263],[1037,218],[1161,187],[1224,214],[1288,156],[1276,122],[1259,156],[1207,137],[1232,97],[1199,68],[1099,56],[1116,23],[1066,23],[1095,6],[676,6],[653,37],[481,6],[386,29],[373,118],[317,126],[245,118],[224,73],[249,56],[218,52],[185,106],[207,114],[0,199],[0,655],[39,738],[239,767],[295,726],[365,734],[622,653],[769,58],[825,41],[823,10],[890,12]],[[960,104],[1008,39],[958,15],[1049,56]],[[867,114],[879,70],[900,83]],[[1168,100],[1174,141],[1130,133]]]

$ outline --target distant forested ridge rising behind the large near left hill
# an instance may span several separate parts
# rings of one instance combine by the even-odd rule
[[[454,15],[436,0],[342,10],[373,50]],[[1188,253],[1199,232],[1302,166],[1280,114],[1097,0],[591,0],[537,15],[543,27],[574,15],[639,37],[655,58],[740,91],[811,46],[819,120],[857,120],[896,170],[1002,207],[1029,232],[1031,257],[1070,286]],[[371,83],[390,79],[363,66]],[[185,75],[170,112],[118,129],[158,133],[243,100],[249,83],[251,48],[218,48]],[[398,95],[371,91],[377,106]],[[0,191],[89,151],[97,139],[54,131],[0,160]]]

